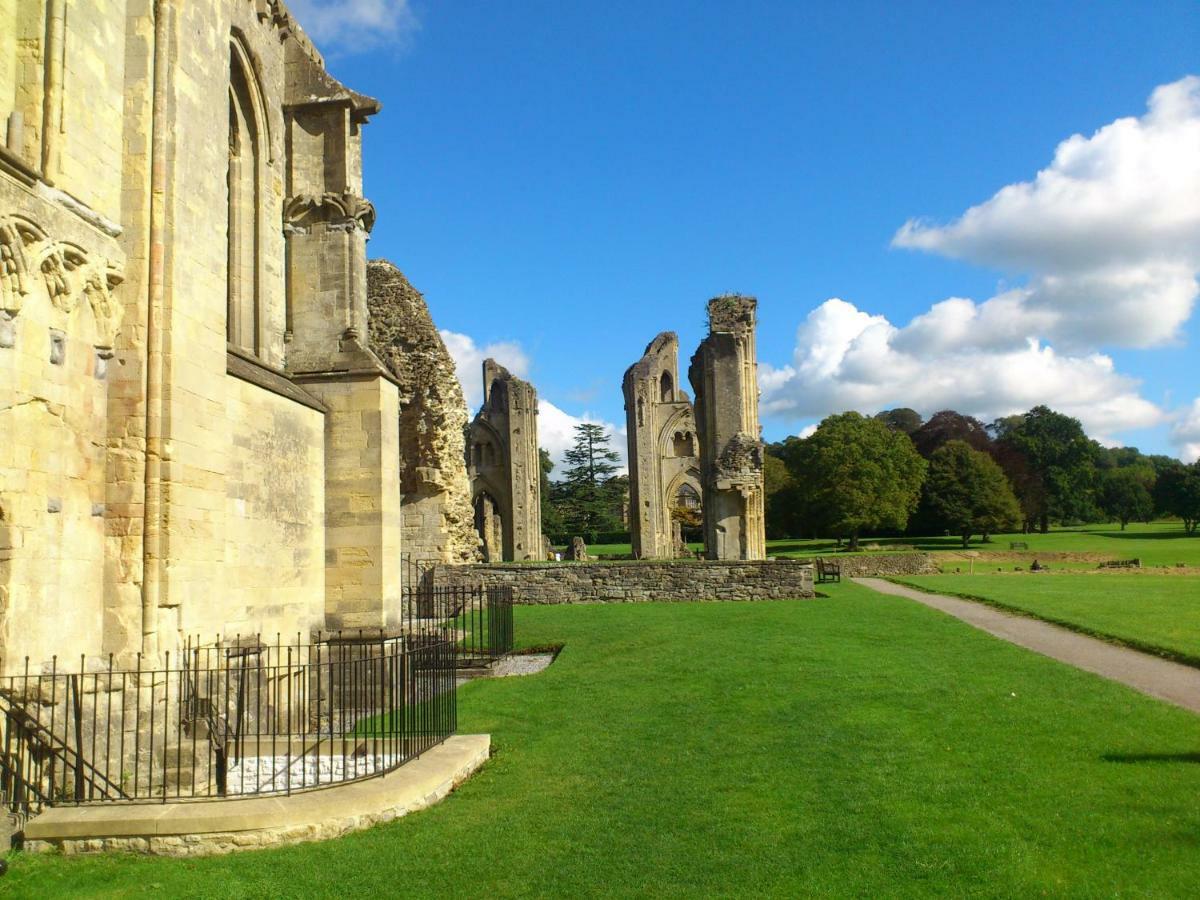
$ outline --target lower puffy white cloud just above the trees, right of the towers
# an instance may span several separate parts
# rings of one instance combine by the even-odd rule
[[[845,300],[827,300],[797,330],[791,365],[760,367],[763,412],[808,419],[908,406],[990,421],[1046,403],[1100,438],[1166,420],[1103,354],[1063,355],[1037,340],[991,349],[955,340],[964,311],[948,300],[896,328]],[[970,324],[977,311],[967,312]]]

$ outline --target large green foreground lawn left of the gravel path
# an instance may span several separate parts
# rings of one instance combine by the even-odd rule
[[[1200,718],[854,584],[521,607],[546,672],[462,690],[437,806],[197,860],[11,857],[54,896],[1166,896],[1200,884]]]

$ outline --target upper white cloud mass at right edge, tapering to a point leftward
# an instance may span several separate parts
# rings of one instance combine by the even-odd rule
[[[1028,276],[982,304],[935,307],[931,325],[956,328],[930,328],[942,343],[1152,347],[1178,336],[1200,293],[1198,197],[1200,78],[1189,76],[1157,88],[1145,115],[1062,142],[1033,181],[946,226],[910,220],[893,245]]]

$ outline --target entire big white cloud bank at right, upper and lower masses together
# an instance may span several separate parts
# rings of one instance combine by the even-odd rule
[[[911,220],[896,247],[1022,278],[976,301],[950,298],[907,323],[839,299],[799,326],[785,366],[763,366],[764,410],[954,408],[991,419],[1048,403],[1104,439],[1174,421],[1200,455],[1200,401],[1168,413],[1104,352],[1178,338],[1200,286],[1200,78],[1154,90],[1145,115],[1062,142],[1032,181],[948,224]]]

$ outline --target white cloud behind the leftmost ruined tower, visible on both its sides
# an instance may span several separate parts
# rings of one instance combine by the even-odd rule
[[[485,359],[494,359],[512,374],[524,378],[529,374],[529,356],[521,344],[515,341],[496,341],[479,344],[469,335],[442,329],[442,341],[454,358],[455,371],[462,383],[463,395],[467,397],[467,407],[472,414],[479,409],[484,402],[484,378],[482,366]],[[593,422],[604,425],[612,434],[612,449],[616,450],[622,461],[625,458],[625,428],[612,422],[583,412],[572,415],[551,403],[545,397],[538,400],[538,443],[550,451],[557,470],[551,478],[557,478],[562,472],[563,454],[575,443],[575,426],[581,422]],[[622,462],[624,470],[624,462]]]

